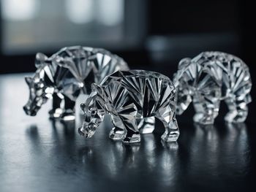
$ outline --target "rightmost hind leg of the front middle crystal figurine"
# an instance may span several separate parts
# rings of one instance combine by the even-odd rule
[[[161,136],[162,140],[165,142],[176,142],[179,136],[176,115],[172,109],[173,106],[167,106],[157,112],[156,116],[165,126],[165,133]]]

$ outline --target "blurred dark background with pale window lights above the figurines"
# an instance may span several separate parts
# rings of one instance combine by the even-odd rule
[[[70,45],[104,47],[133,69],[165,73],[203,50],[233,53],[250,68],[256,63],[252,1],[0,2],[0,73],[33,72],[35,53],[51,55]]]

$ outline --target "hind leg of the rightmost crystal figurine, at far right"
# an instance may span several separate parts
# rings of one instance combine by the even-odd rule
[[[246,97],[250,97],[249,94],[247,94]],[[227,115],[225,116],[225,121],[228,123],[242,123],[244,120],[246,120],[248,115],[248,107],[245,100],[243,99],[242,101],[239,101],[238,98],[228,98],[225,100],[229,109],[229,112],[227,112]]]

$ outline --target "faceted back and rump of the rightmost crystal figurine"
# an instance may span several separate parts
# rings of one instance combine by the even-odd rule
[[[222,99],[226,99],[230,93],[239,95],[241,89],[249,93],[246,91],[246,85],[251,83],[249,68],[235,55],[217,51],[203,52],[192,59],[191,64],[193,63],[202,67],[198,73],[197,87],[200,86],[203,75],[207,73],[221,86]]]

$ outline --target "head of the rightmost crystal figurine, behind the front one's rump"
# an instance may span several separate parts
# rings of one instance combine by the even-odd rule
[[[177,91],[177,106],[176,113],[181,115],[192,101],[191,90],[187,80],[186,71],[189,70],[187,66],[191,64],[190,58],[182,59],[178,64],[178,72],[174,74],[173,83]]]

